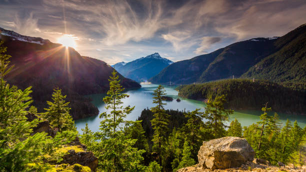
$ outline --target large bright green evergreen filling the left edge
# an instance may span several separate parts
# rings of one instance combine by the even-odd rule
[[[27,87],[23,91],[10,86],[4,80],[11,70],[9,55],[3,54],[6,48],[0,42],[0,171],[34,171],[43,168],[42,155],[54,152],[60,144],[74,139],[75,134],[57,133],[54,138],[45,132],[31,135],[39,120],[27,120],[26,110],[32,102]],[[30,108],[35,112],[34,108]],[[73,137],[73,138],[72,138]],[[39,163],[37,163],[39,162]],[[35,164],[29,166],[28,164]]]

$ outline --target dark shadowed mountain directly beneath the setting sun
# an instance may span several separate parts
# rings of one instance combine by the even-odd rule
[[[97,108],[83,95],[105,93],[113,68],[104,61],[81,56],[75,49],[39,37],[20,35],[0,28],[3,46],[14,68],[5,80],[24,89],[32,86],[33,105],[41,111],[51,99],[53,88],[59,87],[70,101],[74,119],[96,115]],[[119,74],[125,88],[140,85]]]

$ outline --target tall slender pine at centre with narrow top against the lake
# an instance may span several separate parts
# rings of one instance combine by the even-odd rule
[[[162,148],[161,145],[165,143],[167,124],[168,124],[168,114],[165,113],[163,106],[166,103],[162,102],[162,96],[165,95],[165,90],[162,85],[158,87],[153,92],[153,103],[156,104],[155,107],[151,108],[154,113],[154,118],[151,120],[152,128],[154,130],[153,139],[154,147],[158,153],[159,164],[161,164]]]

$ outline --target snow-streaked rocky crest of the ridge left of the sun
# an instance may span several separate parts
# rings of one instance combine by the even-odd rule
[[[44,43],[50,42],[47,39],[42,39],[41,37],[31,37],[31,36],[24,36],[19,33],[16,33],[12,30],[6,30],[4,28],[0,27],[0,34],[5,35],[5,36],[10,36],[12,37],[12,40],[20,40],[24,42],[30,42],[30,43],[37,43],[40,45],[43,45]]]

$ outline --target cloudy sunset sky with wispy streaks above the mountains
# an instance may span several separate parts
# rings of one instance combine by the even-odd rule
[[[0,0],[0,27],[108,64],[158,52],[172,61],[306,23],[306,0]]]

